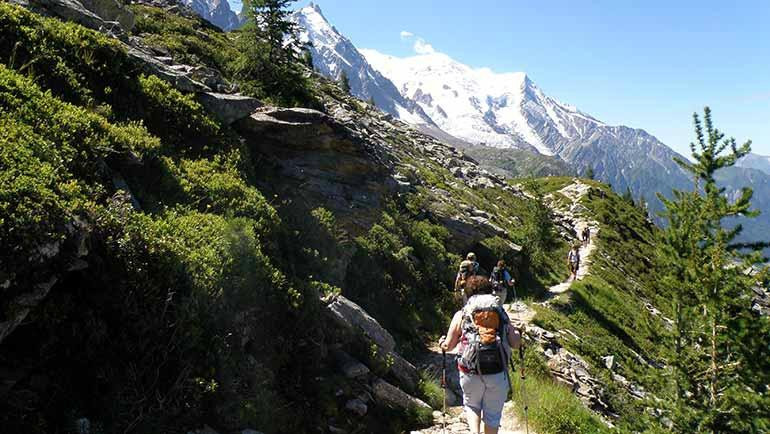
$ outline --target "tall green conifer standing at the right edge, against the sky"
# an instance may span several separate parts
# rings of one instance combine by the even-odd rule
[[[676,159],[695,189],[675,190],[672,200],[658,195],[669,223],[659,252],[661,283],[676,313],[673,419],[679,432],[764,431],[770,429],[770,321],[750,311],[749,295],[767,282],[759,250],[766,244],[735,242],[741,226],[726,220],[757,215],[750,210],[752,191],[744,188],[731,202],[715,180],[719,169],[749,153],[751,142],[738,147],[724,139],[711,111],[704,112],[705,131],[694,116],[694,162]]]

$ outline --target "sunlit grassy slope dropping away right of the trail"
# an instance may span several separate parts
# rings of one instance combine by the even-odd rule
[[[634,352],[648,362],[665,362],[670,336],[659,317],[644,307],[650,302],[662,315],[672,317],[666,294],[660,294],[653,268],[656,229],[632,204],[594,181],[582,204],[601,225],[598,249],[591,274],[572,285],[570,293],[554,300],[551,308],[535,306],[534,322],[549,330],[569,329],[579,340],[562,342],[582,355],[608,385],[609,404],[621,415],[622,430],[654,430],[655,423],[645,414],[650,402],[637,401],[617,386],[601,357],[615,356],[613,371],[645,390],[665,398],[665,370],[641,363]],[[544,188],[555,190],[563,180],[544,181]],[[604,192],[602,194],[601,192]]]

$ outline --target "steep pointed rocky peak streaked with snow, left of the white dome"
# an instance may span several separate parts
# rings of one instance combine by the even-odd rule
[[[404,98],[393,83],[374,69],[352,42],[324,17],[314,3],[296,11],[300,42],[306,43],[313,55],[313,67],[332,80],[343,72],[348,77],[350,92],[362,100],[373,99],[383,111],[413,125],[433,126],[422,108]]]

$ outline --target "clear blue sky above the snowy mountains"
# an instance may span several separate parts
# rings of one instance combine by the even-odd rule
[[[359,48],[411,55],[407,31],[468,65],[526,72],[562,102],[688,156],[692,113],[709,105],[721,130],[770,155],[770,1],[316,3]]]

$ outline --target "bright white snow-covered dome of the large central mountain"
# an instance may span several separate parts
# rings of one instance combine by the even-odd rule
[[[361,52],[444,131],[471,143],[499,148],[529,145],[553,155],[549,128],[573,136],[584,130],[586,121],[600,123],[546,96],[521,72],[473,69],[435,52],[408,58]]]

